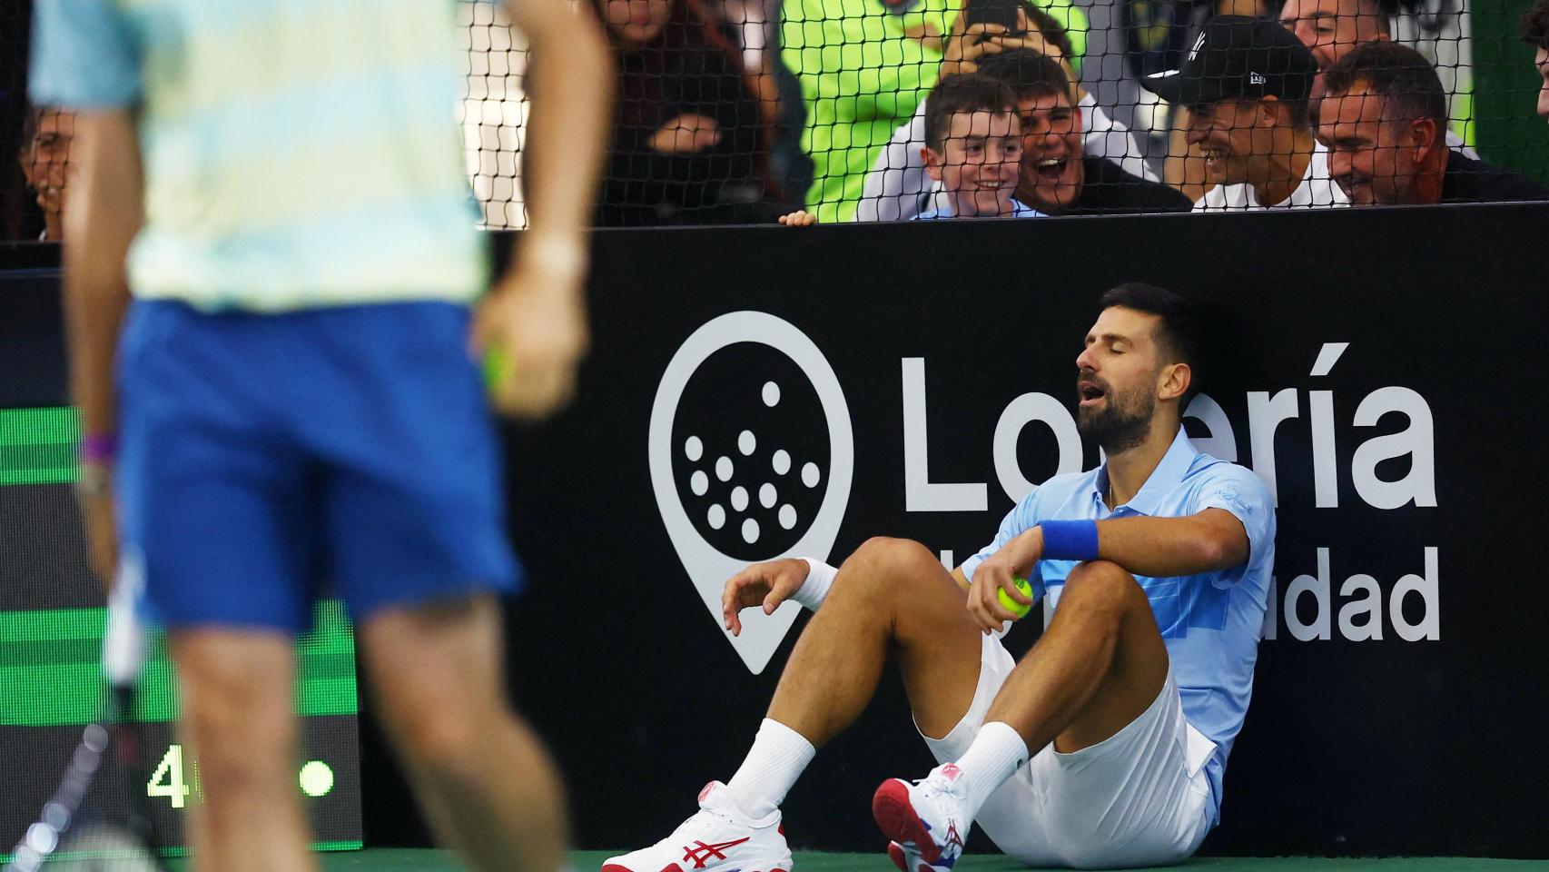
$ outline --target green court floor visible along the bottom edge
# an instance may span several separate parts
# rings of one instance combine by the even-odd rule
[[[572,855],[575,872],[596,872],[603,860],[618,852],[579,850]],[[440,850],[369,849],[321,853],[325,872],[459,872],[463,869]],[[186,869],[177,864],[173,869]],[[1005,857],[971,853],[957,863],[962,872],[1016,872],[1025,869]],[[1549,869],[1546,860],[1476,860],[1464,857],[1202,857],[1182,867],[1200,872],[1530,872]],[[795,872],[895,872],[883,853],[798,852]]]

